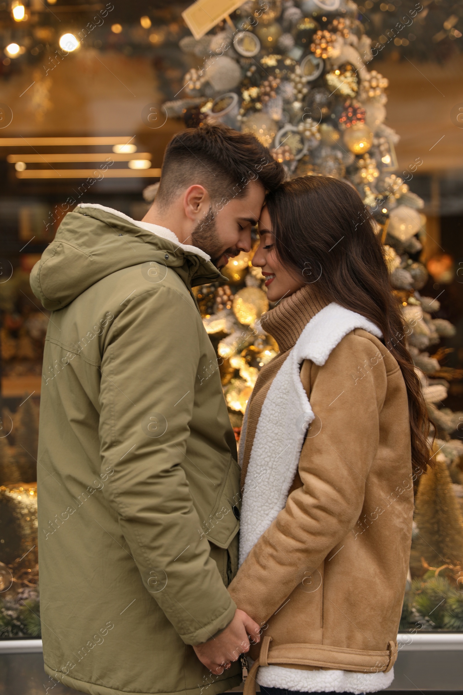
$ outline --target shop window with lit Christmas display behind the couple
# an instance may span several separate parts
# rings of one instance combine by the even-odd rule
[[[172,134],[208,121],[254,133],[288,177],[349,181],[373,212],[436,433],[435,467],[412,481],[401,630],[463,630],[462,8],[96,7],[0,4],[1,639],[40,637],[37,432],[56,366],[42,365],[50,313],[29,274],[82,202],[141,220]],[[252,255],[228,263],[226,283],[195,289],[237,439],[278,352],[255,330],[269,302]]]

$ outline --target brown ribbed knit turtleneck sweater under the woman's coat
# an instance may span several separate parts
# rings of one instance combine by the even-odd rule
[[[255,382],[253,393],[251,394],[246,427],[246,441],[239,443],[240,446],[244,446],[241,474],[242,488],[244,487],[244,480],[253,446],[255,430],[260,418],[260,411],[271,386],[271,382],[273,382],[273,379],[276,377],[280,367],[287,358],[289,350],[294,347],[298,337],[301,335],[310,319],[327,304],[328,302],[317,297],[311,285],[305,285],[295,292],[294,295],[286,297],[273,309],[264,313],[261,318],[262,328],[275,338],[280,348],[280,354],[260,370],[258,380]]]

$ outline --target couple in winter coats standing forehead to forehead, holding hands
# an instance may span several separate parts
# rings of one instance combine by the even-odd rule
[[[60,366],[40,409],[44,662],[81,692],[216,695],[240,655],[249,693],[392,682],[426,412],[357,191],[284,179],[250,134],[182,131],[142,222],[81,204],[33,269]],[[192,287],[256,224],[280,352],[238,457]]]

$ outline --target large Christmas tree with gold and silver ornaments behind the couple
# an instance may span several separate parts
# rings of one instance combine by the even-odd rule
[[[412,553],[416,579],[404,619],[407,623],[410,613],[412,622],[425,628],[439,628],[444,621],[455,629],[462,613],[457,578],[463,564],[463,443],[456,430],[463,414],[442,407],[449,379],[459,375],[439,363],[444,348],[433,350],[455,328],[435,318],[439,301],[420,293],[428,280],[420,260],[426,216],[423,200],[409,184],[421,162],[417,158],[396,172],[399,138],[385,123],[388,81],[372,63],[384,42],[379,37],[372,45],[360,14],[365,8],[351,0],[248,0],[241,6],[223,0],[212,21],[193,8],[201,9],[201,0],[183,13],[192,35],[180,48],[190,69],[183,92],[165,104],[168,115],[183,117],[187,126],[222,122],[254,133],[283,163],[288,178],[322,174],[348,181],[376,221],[436,435],[430,452],[435,469],[419,484]],[[416,11],[410,8],[412,15]],[[260,269],[251,265],[254,250],[255,245],[251,253],[230,260],[226,286],[196,288],[237,439],[259,370],[278,352],[258,320],[269,302]],[[450,567],[443,569],[444,564]],[[455,605],[451,609],[446,602],[437,625],[427,618],[426,601],[439,591],[452,594]]]

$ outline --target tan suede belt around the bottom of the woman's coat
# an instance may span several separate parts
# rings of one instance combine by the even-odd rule
[[[339,669],[361,673],[390,671],[397,658],[397,642],[389,641],[387,651],[347,649],[325,644],[279,644],[269,648],[271,637],[262,639],[259,658],[253,663],[244,683],[243,695],[255,695],[255,676],[260,666],[292,664],[314,666],[321,669]]]

